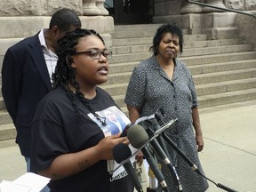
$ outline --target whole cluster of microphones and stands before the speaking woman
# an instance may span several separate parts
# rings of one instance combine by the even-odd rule
[[[143,120],[138,124],[126,125],[124,131],[121,134],[121,137],[127,136],[132,147],[138,149],[135,153],[132,154],[130,148],[124,143],[119,143],[113,148],[114,159],[116,160],[116,163],[120,164],[116,168],[116,170],[123,165],[125,171],[128,173],[132,180],[133,186],[139,192],[143,192],[143,189],[141,188],[140,181],[130,161],[130,158],[137,154],[139,150],[141,150],[143,156],[147,160],[148,165],[150,167],[150,171],[154,173],[160,187],[164,190],[164,192],[170,191],[166,181],[164,180],[163,173],[158,168],[156,158],[154,155],[152,155],[152,150],[150,146],[153,148],[156,154],[163,160],[164,164],[166,164],[167,167],[169,168],[169,171],[172,175],[172,179],[174,180],[174,184],[176,185],[177,191],[182,191],[180,178],[175,170],[175,167],[172,165],[164,140],[172,146],[172,148],[187,162],[188,165],[191,166],[193,171],[196,171],[199,175],[204,177],[204,179],[210,180],[206,178],[204,174],[202,174],[197,169],[196,164],[193,164],[188,159],[188,157],[185,156],[182,151],[180,151],[180,148],[177,148],[177,146],[172,142],[172,140],[170,140],[170,138],[166,136],[164,131],[167,128],[169,128],[177,119],[174,119],[169,123],[164,124],[164,121],[161,116],[164,115],[163,113],[164,112],[160,110],[159,112],[156,112],[154,117],[150,117],[150,119]],[[114,170],[114,172],[116,170]],[[220,183],[217,184],[214,181],[212,181],[212,183],[215,184],[218,188],[222,188],[228,192],[236,192],[236,190],[228,188]]]

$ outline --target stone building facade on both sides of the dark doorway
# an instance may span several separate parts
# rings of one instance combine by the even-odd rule
[[[112,2],[117,1],[113,0]],[[119,0],[119,2],[122,0]],[[132,1],[132,0],[130,0]],[[133,0],[134,1],[134,0]],[[143,0],[135,0],[139,2]],[[244,12],[256,12],[255,0],[194,0],[198,3],[212,4]],[[129,2],[129,0],[123,0]],[[247,15],[188,4],[185,0],[148,0],[148,22],[177,22],[181,28],[191,29],[191,33],[205,32],[209,38],[218,38],[218,28],[239,28],[239,36],[244,41],[256,44],[254,36],[256,20]],[[93,28],[105,38],[111,46],[111,34],[114,31],[114,17],[104,7],[105,0],[2,0],[0,1],[0,62],[6,49],[20,41],[20,38],[32,36],[41,28],[48,28],[51,15],[60,7],[75,10],[82,20],[83,28]],[[123,4],[123,3],[122,3]],[[141,4],[140,4],[141,5]],[[136,20],[136,17],[135,17]]]

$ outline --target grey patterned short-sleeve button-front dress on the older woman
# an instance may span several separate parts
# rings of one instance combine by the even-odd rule
[[[196,88],[186,65],[174,59],[175,68],[172,80],[160,67],[156,56],[142,61],[132,71],[124,102],[140,108],[141,116],[150,116],[158,108],[164,108],[164,122],[178,120],[165,130],[167,136],[203,172],[192,124],[192,108],[198,106]],[[166,143],[171,162],[180,177],[183,192],[203,192],[208,188],[207,180],[191,170],[191,167]],[[171,191],[175,191],[172,176],[162,164],[162,172]],[[204,173],[204,172],[203,172]],[[159,191],[161,191],[158,188]],[[177,190],[177,189],[176,189]]]

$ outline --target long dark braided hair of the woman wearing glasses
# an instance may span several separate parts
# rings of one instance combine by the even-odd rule
[[[65,91],[68,93],[68,99],[71,101],[73,107],[76,110],[77,117],[81,118],[83,115],[78,111],[75,102],[75,94],[69,87],[70,84],[74,86],[76,89],[76,95],[78,96],[79,100],[84,104],[86,108],[92,112],[92,114],[100,121],[100,123],[105,126],[105,117],[101,117],[96,114],[90,103],[84,99],[84,93],[80,92],[80,86],[76,82],[76,69],[71,67],[71,55],[76,52],[76,45],[78,44],[79,39],[84,36],[98,36],[102,43],[105,44],[103,38],[92,29],[76,28],[74,31],[68,32],[66,36],[62,37],[58,41],[59,50],[57,51],[57,55],[59,60],[57,61],[55,73],[52,75],[52,88],[56,89],[60,85],[64,87]]]

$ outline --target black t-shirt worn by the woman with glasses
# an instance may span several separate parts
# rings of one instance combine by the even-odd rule
[[[92,148],[105,135],[100,129],[100,122],[88,116],[90,110],[75,96],[75,103],[83,118],[78,119],[75,108],[68,99],[63,87],[48,93],[38,104],[32,122],[31,171],[44,170],[54,158],[63,154],[76,153],[85,148]],[[94,111],[116,108],[115,101],[99,87],[97,96],[88,100]],[[65,167],[63,167],[65,169]],[[93,164],[61,180],[51,180],[48,186],[52,192],[132,192],[131,180],[126,172],[111,178],[107,161]]]

